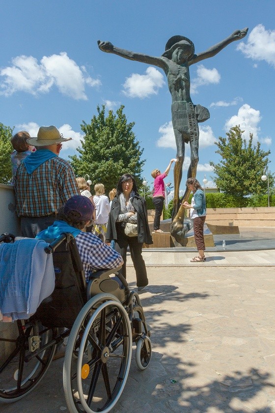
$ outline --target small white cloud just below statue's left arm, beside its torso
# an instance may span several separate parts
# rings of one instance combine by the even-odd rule
[[[155,67],[148,67],[145,75],[133,73],[123,85],[123,93],[128,97],[143,99],[151,94],[158,94],[158,89],[165,84],[163,74]]]

